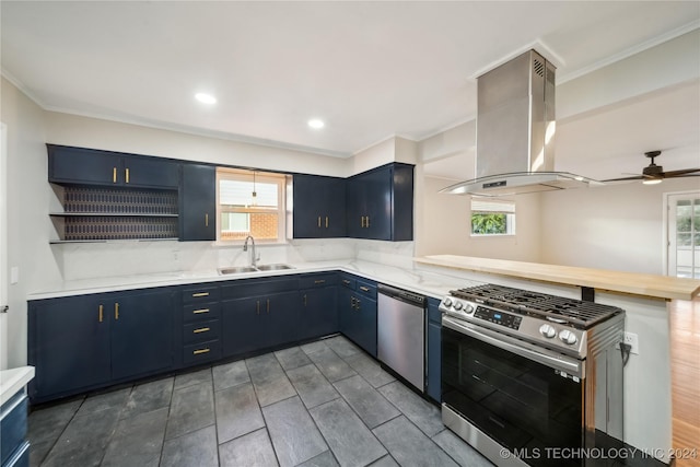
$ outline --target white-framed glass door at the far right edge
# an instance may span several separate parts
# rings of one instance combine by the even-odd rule
[[[700,192],[666,195],[667,275],[700,279]]]

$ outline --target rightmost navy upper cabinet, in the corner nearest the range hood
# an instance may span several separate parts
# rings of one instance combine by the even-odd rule
[[[392,163],[347,180],[348,236],[413,240],[413,166]]]

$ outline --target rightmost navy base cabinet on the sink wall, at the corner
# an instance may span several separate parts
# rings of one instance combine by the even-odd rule
[[[300,340],[338,332],[337,280],[336,272],[304,275],[300,278]]]

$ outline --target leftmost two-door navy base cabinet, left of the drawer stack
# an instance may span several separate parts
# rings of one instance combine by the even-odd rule
[[[173,367],[174,291],[30,302],[33,400],[44,401]]]

